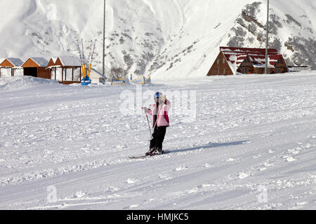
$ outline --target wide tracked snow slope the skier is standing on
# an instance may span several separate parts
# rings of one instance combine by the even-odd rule
[[[315,72],[143,87],[157,90],[195,92],[195,120],[171,114],[170,153],[131,160],[150,138],[120,112],[136,86],[1,78],[0,209],[316,209]]]

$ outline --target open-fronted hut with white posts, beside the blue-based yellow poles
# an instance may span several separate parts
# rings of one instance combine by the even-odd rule
[[[62,84],[80,83],[81,63],[78,57],[52,57],[48,62],[50,78]]]

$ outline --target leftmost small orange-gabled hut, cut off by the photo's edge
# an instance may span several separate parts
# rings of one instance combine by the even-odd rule
[[[22,64],[20,58],[7,57],[0,59],[0,77],[23,76]]]

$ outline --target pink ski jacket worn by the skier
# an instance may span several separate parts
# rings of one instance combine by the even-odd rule
[[[150,115],[152,115],[152,118],[154,118],[153,116],[153,111],[156,111],[156,104],[152,104],[150,105],[151,109],[147,109],[145,110],[146,113],[149,113]],[[168,116],[168,111],[171,109],[171,103],[169,102],[169,100],[166,100],[166,103],[164,105],[160,105],[158,107],[158,115],[157,115],[157,127],[169,127],[170,123],[169,123],[169,116]],[[154,127],[154,125],[156,124],[156,120],[152,119],[152,127]]]

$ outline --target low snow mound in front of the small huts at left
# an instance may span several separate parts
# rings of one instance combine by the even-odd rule
[[[60,85],[55,80],[31,76],[0,78],[0,90],[23,90],[37,85]]]

